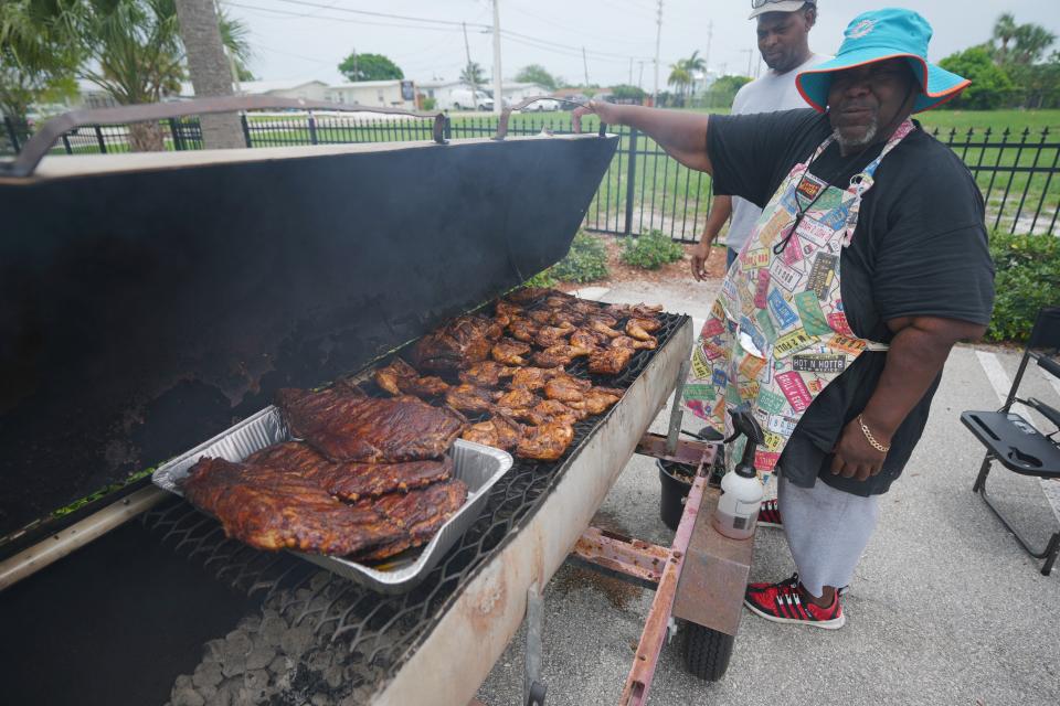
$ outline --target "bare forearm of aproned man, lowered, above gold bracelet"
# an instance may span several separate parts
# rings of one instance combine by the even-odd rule
[[[983,327],[944,319],[914,319],[901,329],[862,413],[873,435],[893,437],[942,371],[953,345],[982,334]]]

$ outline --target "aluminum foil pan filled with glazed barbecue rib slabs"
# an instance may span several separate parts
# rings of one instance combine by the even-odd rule
[[[286,394],[287,402],[298,397]],[[330,400],[297,402],[303,409]],[[402,593],[474,524],[512,466],[502,450],[465,439],[449,445],[455,430],[443,420],[442,440],[427,445],[423,458],[391,459],[383,439],[369,439],[356,459],[337,458],[331,445],[321,450],[298,440],[271,406],[159,467],[152,480],[223,516],[226,532],[252,546],[287,549],[375,591]],[[307,431],[315,430],[299,429]],[[428,460],[437,448],[448,450]]]

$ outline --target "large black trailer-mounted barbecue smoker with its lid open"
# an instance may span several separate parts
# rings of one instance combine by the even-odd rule
[[[659,314],[657,349],[608,381],[619,402],[558,461],[516,458],[396,588],[227,539],[152,484],[262,424],[277,389],[363,379],[491,311],[564,256],[618,140],[506,138],[507,113],[492,139],[447,140],[418,115],[433,140],[45,157],[82,125],[264,107],[337,108],[67,114],[0,168],[0,702],[464,706],[527,620],[526,703],[547,703],[541,593],[565,560],[656,589],[623,704],[675,625],[720,678],[752,542],[710,526],[716,448],[678,440],[679,416],[646,434],[683,379],[686,315]],[[696,473],[672,547],[590,526],[634,452]]]

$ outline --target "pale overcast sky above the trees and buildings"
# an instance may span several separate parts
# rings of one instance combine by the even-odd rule
[[[582,83],[654,82],[656,2],[653,0],[499,0],[500,26],[515,35],[501,40],[502,74],[511,78],[527,64]],[[263,79],[342,81],[336,66],[354,47],[385,54],[407,78],[430,81],[459,76],[465,64],[466,22],[471,60],[491,73],[490,0],[221,0],[251,31],[252,68]],[[835,53],[842,29],[855,15],[891,3],[822,0],[810,47]],[[943,56],[990,36],[997,15],[1013,12],[1017,22],[1037,22],[1060,35],[1057,0],[907,0],[935,31],[930,58]],[[669,65],[699,50],[712,69],[759,71],[750,0],[664,0],[659,89]],[[356,11],[428,19],[358,14]],[[582,61],[582,47],[586,62]],[[1054,47],[1060,45],[1054,45]],[[749,53],[753,50],[753,54]],[[632,63],[630,63],[632,60]],[[632,71],[630,71],[632,66]],[[764,69],[764,68],[763,68]],[[643,71],[643,74],[642,74]]]

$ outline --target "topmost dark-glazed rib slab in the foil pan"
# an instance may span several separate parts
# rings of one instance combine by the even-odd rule
[[[454,413],[411,396],[377,399],[332,387],[285,388],[277,397],[292,435],[332,461],[439,458],[465,426]]]

